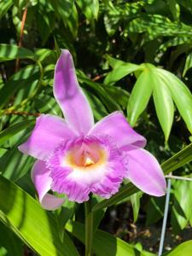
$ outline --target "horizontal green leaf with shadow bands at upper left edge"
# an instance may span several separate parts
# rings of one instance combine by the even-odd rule
[[[35,60],[35,55],[32,50],[15,44],[0,44],[0,61],[11,61],[17,58]]]

